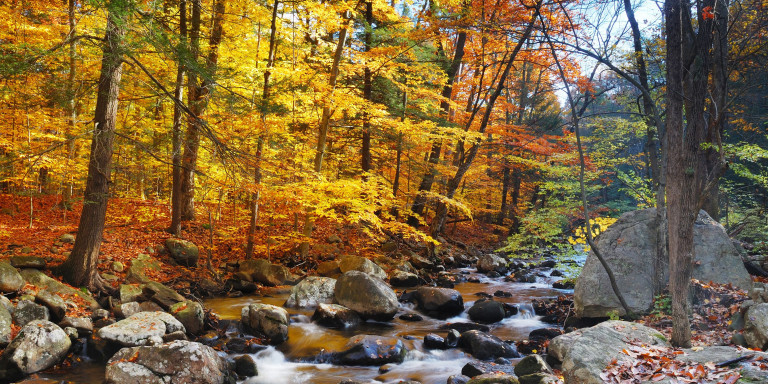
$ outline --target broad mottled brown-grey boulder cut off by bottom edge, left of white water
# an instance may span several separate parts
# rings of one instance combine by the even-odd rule
[[[155,347],[123,348],[107,363],[107,384],[224,384],[228,364],[208,346],[176,340]]]

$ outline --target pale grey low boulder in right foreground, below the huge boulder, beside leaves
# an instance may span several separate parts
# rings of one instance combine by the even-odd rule
[[[619,363],[631,359],[621,353],[630,347],[630,342],[669,346],[667,339],[653,328],[626,321],[606,321],[552,339],[547,353],[562,362],[565,382],[602,384],[600,373],[613,359]]]

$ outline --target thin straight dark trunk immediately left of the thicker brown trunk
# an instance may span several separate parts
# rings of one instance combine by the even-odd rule
[[[181,101],[184,97],[184,59],[182,50],[186,49],[187,43],[187,1],[179,1],[179,58],[176,69],[176,87],[173,96]],[[173,138],[172,138],[172,190],[171,190],[171,226],[168,232],[175,236],[181,236],[181,124],[184,111],[181,110],[181,103],[173,104]]]

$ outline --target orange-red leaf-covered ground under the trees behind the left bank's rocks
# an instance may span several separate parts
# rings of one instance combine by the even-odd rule
[[[60,208],[59,202],[60,196],[57,195],[34,197],[31,199],[30,219],[28,197],[0,194],[0,259],[29,254],[43,257],[49,267],[63,262],[72,250],[72,244],[62,244],[59,238],[66,233],[77,233],[82,202],[74,202],[70,210]],[[206,266],[210,260],[217,269],[227,263],[244,260],[247,210],[233,208],[231,204],[211,204],[198,206],[197,211],[197,220],[184,222],[181,237],[199,247],[198,265]],[[307,260],[297,260],[297,249],[303,239],[299,233],[303,218],[290,213],[272,216],[282,219],[269,219],[257,228],[254,257],[286,265],[294,273],[307,274],[317,263],[345,254],[369,258],[385,254],[381,245],[388,240],[386,236],[365,233],[357,225],[317,220],[312,232],[310,255]],[[186,268],[174,263],[167,254],[157,254],[156,250],[165,239],[172,237],[166,231],[169,224],[170,207],[165,201],[110,199],[100,250],[100,272],[116,275],[114,285],[117,286],[125,278],[131,260],[143,253],[163,263],[163,268],[151,276],[163,284],[174,286],[181,281],[211,278],[207,268]],[[467,246],[489,251],[500,244],[499,236],[494,235],[493,230],[492,225],[467,221],[448,225],[446,236]],[[331,235],[339,236],[341,243],[329,244],[327,239]],[[126,269],[114,271],[111,268],[113,262],[122,263]]]

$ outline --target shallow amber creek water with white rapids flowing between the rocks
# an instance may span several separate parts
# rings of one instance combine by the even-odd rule
[[[464,297],[464,307],[469,309],[480,298],[476,294],[484,292],[493,295],[496,291],[510,293],[510,297],[496,297],[495,300],[517,304],[519,313],[491,324],[490,333],[502,340],[523,340],[538,328],[553,325],[540,321],[533,313],[531,300],[551,298],[566,291],[553,289],[551,282],[556,279],[539,278],[537,283],[511,283],[503,278],[488,278],[476,275],[474,270],[456,272],[477,276],[479,282],[456,284]],[[398,294],[402,290],[398,290]],[[240,311],[251,303],[266,303],[282,306],[287,299],[287,292],[271,296],[242,296],[237,298],[214,298],[206,300],[206,308],[212,309],[222,319],[240,319]],[[423,384],[444,384],[448,376],[461,372],[461,368],[471,360],[471,356],[460,349],[425,350],[422,346],[424,336],[437,333],[445,336],[447,330],[440,329],[446,323],[470,322],[466,311],[459,316],[446,320],[437,320],[423,316],[422,321],[409,322],[398,317],[405,313],[418,313],[412,304],[401,303],[400,311],[389,323],[366,322],[351,330],[329,329],[312,323],[309,318],[313,310],[289,309],[291,326],[288,341],[269,347],[252,356],[256,360],[259,375],[245,380],[244,384],[337,384],[344,379],[373,381],[379,383],[397,383],[400,380],[418,380]],[[389,371],[381,373],[379,367],[337,366],[314,362],[314,357],[324,351],[341,351],[348,339],[358,334],[375,334],[400,337],[409,352],[402,364],[388,365]],[[514,362],[514,361],[513,361]],[[101,383],[104,378],[104,366],[95,363],[83,363],[77,368],[59,374],[45,374],[40,377],[67,380],[77,383]]]

